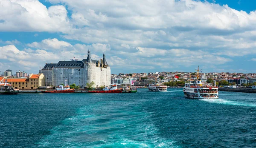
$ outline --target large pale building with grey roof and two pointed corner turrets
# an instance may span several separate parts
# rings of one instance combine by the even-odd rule
[[[59,61],[55,63],[46,63],[44,68],[39,70],[46,79],[45,85],[76,84],[84,88],[87,83],[94,82],[94,87],[111,84],[111,69],[106,61],[105,54],[103,59],[92,60],[90,51],[87,59]]]

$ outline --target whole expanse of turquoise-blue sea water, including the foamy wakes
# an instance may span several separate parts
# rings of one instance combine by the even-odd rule
[[[256,94],[182,89],[0,96],[0,147],[256,147]]]

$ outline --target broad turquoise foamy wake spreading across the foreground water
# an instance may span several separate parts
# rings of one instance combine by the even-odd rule
[[[41,139],[40,147],[179,147],[174,141],[158,136],[148,112],[130,107],[104,105],[80,108]],[[89,114],[88,114],[89,113]]]

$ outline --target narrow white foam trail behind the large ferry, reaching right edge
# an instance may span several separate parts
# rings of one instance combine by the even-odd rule
[[[202,99],[202,101],[225,104],[225,105],[238,105],[238,106],[256,107],[256,104],[236,102],[236,101],[223,100],[223,99]]]

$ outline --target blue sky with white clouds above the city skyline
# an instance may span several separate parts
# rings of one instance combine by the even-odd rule
[[[0,71],[91,51],[111,73],[256,73],[254,0],[0,0]]]

